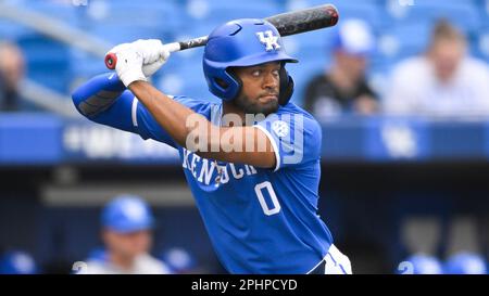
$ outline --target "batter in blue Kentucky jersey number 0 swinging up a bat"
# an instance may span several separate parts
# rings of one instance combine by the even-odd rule
[[[351,273],[317,215],[322,131],[289,102],[297,62],[263,20],[215,28],[203,54],[221,103],[168,96],[148,77],[170,56],[158,40],[111,50],[116,75],[73,93],[80,114],[178,150],[217,257],[230,273]]]

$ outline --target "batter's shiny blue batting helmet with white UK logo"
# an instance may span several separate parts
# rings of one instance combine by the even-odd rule
[[[235,99],[241,81],[227,69],[268,62],[297,63],[284,49],[278,30],[269,22],[241,18],[215,28],[203,55],[203,72],[209,90],[224,101]],[[279,102],[285,105],[293,91],[293,80],[283,67]]]

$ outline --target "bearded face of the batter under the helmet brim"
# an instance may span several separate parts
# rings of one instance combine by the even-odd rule
[[[271,62],[251,67],[234,68],[242,81],[241,92],[234,100],[246,114],[268,115],[278,110],[279,62]]]

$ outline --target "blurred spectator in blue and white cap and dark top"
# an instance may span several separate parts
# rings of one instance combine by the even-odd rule
[[[342,112],[373,114],[377,111],[377,96],[365,80],[374,39],[363,21],[349,20],[340,25],[334,40],[330,70],[315,76],[305,89],[305,108],[317,119]]]

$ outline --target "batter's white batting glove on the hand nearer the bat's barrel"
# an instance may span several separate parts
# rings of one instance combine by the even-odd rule
[[[159,70],[170,57],[170,51],[158,39],[139,39],[131,44],[142,56],[142,73],[148,78]]]

